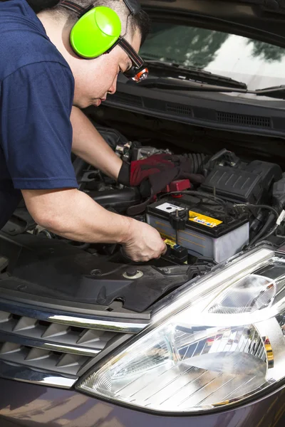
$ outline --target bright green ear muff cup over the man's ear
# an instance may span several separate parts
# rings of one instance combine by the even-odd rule
[[[119,16],[105,6],[98,6],[79,19],[71,30],[71,46],[82,58],[97,58],[107,52],[120,37]]]

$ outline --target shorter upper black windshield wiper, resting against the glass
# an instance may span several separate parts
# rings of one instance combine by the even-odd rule
[[[233,80],[223,75],[213,74],[209,71],[205,71],[202,68],[196,67],[185,67],[183,65],[163,62],[160,60],[147,60],[147,65],[150,70],[150,74],[156,74],[158,77],[172,77],[177,78],[181,81],[196,80],[204,83],[219,83],[227,88],[241,88],[247,89],[247,85],[237,80]],[[157,73],[155,73],[157,72]]]

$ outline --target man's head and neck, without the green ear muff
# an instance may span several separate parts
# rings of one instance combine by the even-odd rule
[[[136,52],[139,51],[150,28],[150,21],[145,12],[130,15],[123,0],[75,0],[75,2],[84,9],[90,6],[107,6],[113,9],[120,17],[121,36],[124,36]],[[100,105],[108,93],[115,93],[118,73],[125,72],[132,65],[123,48],[115,46],[110,53],[91,60],[80,58],[73,52],[69,42],[71,29],[78,21],[74,11],[57,4],[52,9],[42,11],[38,14],[38,18],[41,19],[53,44],[71,66],[76,82],[74,105],[78,107]]]

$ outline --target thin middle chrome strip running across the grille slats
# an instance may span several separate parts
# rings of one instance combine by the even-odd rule
[[[1,324],[0,324],[1,325]],[[52,342],[41,341],[39,339],[27,338],[23,335],[17,335],[10,332],[4,332],[0,330],[0,342],[14,342],[15,344],[23,345],[26,347],[36,347],[37,349],[46,349],[51,352],[62,352],[62,353],[71,353],[78,354],[81,356],[94,357],[96,354],[100,353],[101,350],[98,349],[88,349],[81,346],[70,346],[66,344],[53,344]],[[1,360],[1,354],[0,354]]]

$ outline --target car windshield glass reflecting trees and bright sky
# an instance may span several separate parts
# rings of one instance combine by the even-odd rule
[[[205,28],[152,23],[145,60],[194,66],[244,82],[250,90],[285,84],[285,49]]]

